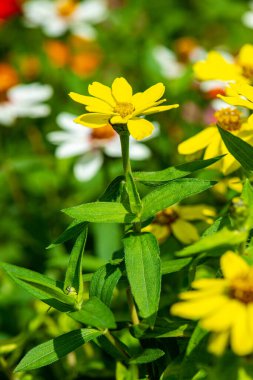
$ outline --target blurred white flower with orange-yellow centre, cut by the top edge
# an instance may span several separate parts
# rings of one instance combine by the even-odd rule
[[[59,37],[70,30],[74,35],[95,38],[91,24],[103,21],[107,15],[104,0],[31,0],[23,5],[27,26],[42,28],[49,37]]]

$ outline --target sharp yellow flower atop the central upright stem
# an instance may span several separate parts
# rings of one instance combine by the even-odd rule
[[[125,125],[136,140],[152,134],[154,126],[143,117],[156,112],[177,108],[178,104],[160,106],[166,99],[159,100],[165,91],[162,83],[157,83],[144,92],[133,95],[130,84],[124,78],[116,78],[112,87],[93,82],[88,87],[91,96],[71,92],[70,97],[86,106],[89,113],[77,117],[74,121],[89,128],[101,128],[110,123],[112,126]]]

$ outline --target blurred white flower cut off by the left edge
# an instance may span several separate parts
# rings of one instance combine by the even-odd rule
[[[50,107],[43,104],[53,94],[47,84],[18,84],[6,91],[4,100],[0,101],[0,124],[9,126],[18,117],[38,118],[48,116]]]

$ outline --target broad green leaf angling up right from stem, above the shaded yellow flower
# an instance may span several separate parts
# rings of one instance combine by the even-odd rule
[[[184,198],[209,189],[215,182],[195,178],[177,179],[151,191],[143,198],[141,219],[154,216],[158,211],[178,203]]]

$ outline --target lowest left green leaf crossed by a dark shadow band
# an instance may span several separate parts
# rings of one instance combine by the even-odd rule
[[[78,347],[102,335],[93,329],[74,330],[32,348],[20,361],[14,372],[29,371],[54,363]]]

